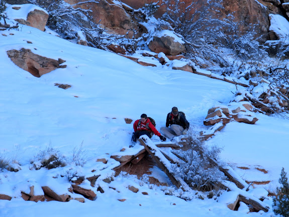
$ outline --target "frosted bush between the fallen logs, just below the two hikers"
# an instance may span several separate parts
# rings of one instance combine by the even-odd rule
[[[185,151],[177,151],[183,160],[179,165],[173,165],[174,174],[179,175],[192,189],[210,191],[214,185],[225,179],[218,169],[221,166],[221,149],[217,146],[208,147],[196,133],[188,136],[185,141]],[[215,163],[212,163],[212,160]]]

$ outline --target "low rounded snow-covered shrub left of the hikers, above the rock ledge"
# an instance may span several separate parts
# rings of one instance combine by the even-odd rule
[[[42,167],[50,170],[57,167],[65,167],[66,159],[64,156],[60,155],[58,150],[49,145],[45,150],[41,150],[36,154],[34,160],[31,160],[30,163],[33,164],[36,170],[39,170]]]

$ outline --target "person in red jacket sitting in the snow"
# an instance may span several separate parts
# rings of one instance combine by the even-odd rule
[[[156,134],[160,140],[165,141],[166,138],[163,137],[159,131],[154,127],[151,123],[150,119],[147,117],[146,114],[141,115],[141,119],[136,120],[134,122],[134,131],[132,135],[132,141],[136,141],[141,135],[147,135],[149,138]]]

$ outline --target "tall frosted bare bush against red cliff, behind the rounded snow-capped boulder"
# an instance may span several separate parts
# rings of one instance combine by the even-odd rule
[[[203,2],[163,1],[167,12],[162,18],[169,22],[173,30],[186,42],[186,57],[199,65],[228,63],[220,55],[214,44],[218,38],[220,21],[212,17],[214,11],[221,8],[220,1]]]

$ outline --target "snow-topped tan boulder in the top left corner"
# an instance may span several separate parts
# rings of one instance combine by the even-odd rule
[[[20,24],[37,28],[41,31],[45,30],[48,20],[48,12],[44,9],[32,5],[11,5],[6,9],[8,19],[15,20]]]

